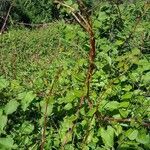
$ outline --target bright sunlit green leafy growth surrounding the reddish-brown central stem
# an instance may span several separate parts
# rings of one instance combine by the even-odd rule
[[[144,1],[96,8],[92,108],[86,99],[79,107],[89,52],[79,25],[58,21],[2,35],[0,148],[37,150],[46,127],[46,150],[149,150],[149,13]]]

